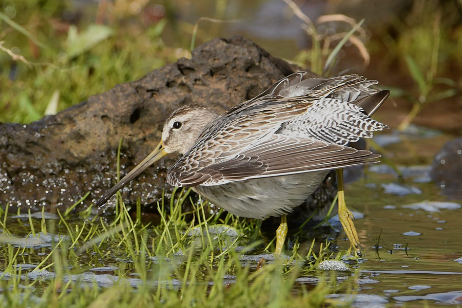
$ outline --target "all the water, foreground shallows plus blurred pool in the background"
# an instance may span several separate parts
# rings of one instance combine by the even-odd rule
[[[308,4],[309,5],[309,4]],[[243,10],[245,5],[238,6],[237,11]],[[222,29],[218,36],[229,37],[236,33],[242,33],[269,50],[273,55],[284,56],[293,59],[294,56],[307,45],[306,35],[299,28],[297,18],[284,18],[282,22],[274,22],[275,16],[281,17],[281,10],[285,8],[282,2],[250,3],[251,9],[246,7],[246,11],[251,12],[249,16],[244,16],[240,24],[215,25],[212,28]],[[214,6],[207,6],[208,10]],[[211,9],[210,9],[211,8]],[[181,8],[180,8],[181,9]],[[185,7],[187,10],[188,7]],[[186,20],[195,23],[197,18],[207,12],[206,8],[201,8],[196,16],[188,15]],[[315,16],[325,13],[322,4],[311,7],[305,12],[316,12],[310,15]],[[373,11],[371,10],[370,13]],[[182,12],[186,14],[185,12]],[[365,12],[363,12],[365,13]],[[242,14],[236,13],[239,17]],[[261,19],[259,16],[265,16]],[[375,16],[375,15],[374,15]],[[224,16],[234,17],[234,16]],[[361,16],[362,17],[362,16]],[[369,18],[368,21],[375,21]],[[206,29],[207,26],[203,26]],[[207,29],[206,29],[207,30]],[[213,32],[214,30],[210,30]],[[217,30],[218,32],[218,30]],[[267,33],[271,35],[267,35]],[[211,36],[217,36],[211,33]],[[173,36],[172,36],[173,37]],[[372,59],[377,61],[377,54]],[[347,63],[350,65],[350,63]],[[379,66],[377,66],[379,67]],[[374,73],[371,66],[370,71]],[[369,76],[369,72],[364,75]],[[391,78],[394,78],[391,75]],[[402,76],[401,76],[402,77]],[[375,77],[381,84],[386,84],[390,79],[386,74]],[[402,77],[404,78],[404,77]],[[406,76],[409,79],[409,76]],[[391,83],[393,84],[393,82]],[[438,102],[439,104],[439,102]],[[383,115],[382,108],[377,112],[378,117],[387,119],[398,119],[398,115],[403,117],[409,110],[397,104],[397,108],[390,108],[392,115]],[[384,105],[383,109],[387,106]],[[446,112],[448,113],[448,112]],[[430,117],[440,119],[439,115],[444,115],[444,108],[432,110]],[[393,120],[391,120],[393,121]],[[390,121],[383,122],[391,124]],[[449,125],[439,123],[439,125]],[[346,197],[350,209],[357,211],[358,219],[355,225],[358,236],[363,248],[363,258],[358,261],[348,261],[347,265],[351,272],[337,273],[336,278],[339,282],[354,281],[357,287],[356,295],[333,294],[332,298],[341,298],[353,302],[357,307],[381,307],[381,306],[422,306],[428,303],[429,306],[462,305],[462,245],[460,245],[460,222],[462,221],[461,200],[449,200],[442,196],[440,189],[429,182],[428,170],[430,162],[441,147],[441,145],[453,138],[452,136],[441,133],[427,133],[424,136],[418,134],[399,134],[394,131],[377,136],[375,141],[387,149],[384,156],[392,159],[401,167],[404,180],[400,181],[391,167],[386,164],[370,166],[366,176],[359,181],[347,185]],[[53,242],[56,243],[62,237],[50,237],[40,234],[41,213],[33,214],[32,219],[40,237],[32,238],[28,241],[26,248],[20,251],[17,257],[17,268],[23,269],[22,279],[43,279],[42,284],[46,284],[52,279],[55,273],[51,269],[46,269],[40,273],[33,272],[40,262],[50,253]],[[45,219],[57,219],[54,214],[46,214]],[[79,225],[84,228],[86,221],[74,218],[70,227],[75,228]],[[7,219],[7,227],[14,236],[21,239],[30,232],[28,215],[10,215]],[[338,228],[338,226],[336,226]],[[217,228],[216,228],[217,229]],[[98,234],[102,231],[99,230]],[[64,225],[56,225],[55,233],[67,235],[67,228]],[[191,234],[197,230],[191,230]],[[211,233],[211,230],[210,230]],[[332,232],[335,234],[335,232]],[[75,235],[75,234],[74,234]],[[329,237],[331,233],[325,234]],[[214,235],[212,235],[214,236]],[[69,241],[69,239],[64,239]],[[305,247],[309,247],[312,239],[310,237],[300,238],[305,242]],[[21,240],[10,241],[16,247],[24,247]],[[304,244],[304,243],[303,243]],[[349,248],[349,242],[344,239],[341,233],[337,238],[336,244],[339,251]],[[242,246],[239,246],[242,249]],[[257,247],[261,249],[261,247]],[[242,266],[252,266],[257,268],[258,262],[263,258],[268,263],[274,261],[274,256],[263,254],[254,247],[250,252],[246,252],[240,258]],[[117,281],[119,276],[134,273],[133,260],[130,259],[126,251],[122,251],[117,246],[103,243],[99,246],[101,255],[97,253],[79,253],[78,258],[75,254],[70,254],[67,260],[67,268],[72,276],[68,279],[80,279],[91,283],[96,280],[99,286],[107,287]],[[175,265],[182,265],[187,258],[178,250],[170,258],[153,256],[146,261],[158,264],[167,262]],[[5,243],[0,247],[0,272],[4,272],[8,265],[9,251]],[[44,265],[51,264],[49,258]],[[345,261],[346,262],[346,261]],[[66,268],[63,265],[63,268]],[[1,274],[0,274],[1,275]],[[356,276],[355,276],[356,275]],[[132,286],[138,286],[141,280],[136,275],[132,275],[128,282]],[[7,278],[7,275],[4,279]],[[236,277],[226,274],[226,283],[236,283]],[[297,278],[298,285],[315,285],[319,282],[316,275],[300,276]],[[181,287],[181,282],[176,279],[170,281],[172,287]],[[39,288],[36,284],[35,287]]]

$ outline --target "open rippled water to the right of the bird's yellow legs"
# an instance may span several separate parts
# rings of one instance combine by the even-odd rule
[[[371,173],[368,181],[393,178]],[[356,267],[360,278],[376,281],[360,284],[359,293],[378,295],[392,304],[423,300],[431,306],[462,304],[460,204],[421,202],[446,198],[432,183],[416,186],[421,195],[387,194],[364,189],[359,182],[348,188],[347,201],[365,214],[355,220],[365,259]],[[345,241],[337,244],[341,249],[349,246]]]

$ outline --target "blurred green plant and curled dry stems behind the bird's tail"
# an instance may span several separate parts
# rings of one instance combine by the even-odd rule
[[[462,16],[460,6],[457,7],[455,2],[446,5],[434,0],[414,2],[408,15],[401,18],[394,16],[382,27],[375,25],[373,31],[376,33],[369,42],[367,31],[362,27],[364,20],[357,23],[348,16],[334,14],[322,15],[312,22],[292,0],[284,2],[303,22],[302,28],[311,38],[311,47],[301,50],[295,62],[319,75],[332,76],[333,72],[339,73],[335,69],[339,61],[356,63],[358,61],[352,60],[357,57],[362,59],[364,69],[369,65],[371,56],[374,57],[383,74],[380,87],[390,89],[392,98],[412,104],[412,109],[399,124],[399,130],[405,130],[428,105],[460,97],[462,80],[454,72],[462,69]],[[331,33],[324,28],[326,24],[329,27],[329,23],[335,24],[330,28]],[[345,29],[344,32],[341,32],[342,29]],[[338,55],[347,42],[356,49],[356,56],[343,60]],[[353,72],[357,69],[361,70],[361,66],[348,68]],[[397,79],[396,71],[400,73]],[[350,72],[342,72],[345,73]],[[388,73],[392,80],[387,78]]]

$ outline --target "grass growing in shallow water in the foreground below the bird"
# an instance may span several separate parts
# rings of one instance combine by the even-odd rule
[[[110,220],[58,213],[44,223],[5,212],[0,307],[345,305],[328,295],[351,293],[352,282],[339,286],[322,275],[317,285],[297,281],[320,275],[315,266],[333,258],[328,243],[315,253],[313,241],[305,256],[295,243],[287,259],[249,257],[261,252],[261,243],[249,242],[258,224],[231,215],[206,218],[203,204],[183,213],[188,192],[175,191],[168,209],[159,204],[159,225],[133,220],[121,199]],[[189,222],[190,214],[197,219]]]

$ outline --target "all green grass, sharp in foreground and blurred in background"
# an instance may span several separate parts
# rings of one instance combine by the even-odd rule
[[[348,41],[358,58],[369,62],[362,22],[338,15],[312,22],[290,0],[286,3],[312,38],[312,47],[295,59],[302,67],[332,75],[337,55]],[[402,76],[413,81],[414,87],[393,89],[395,96],[414,106],[402,126],[426,105],[453,97],[460,87],[457,81],[441,78],[452,66],[462,65],[460,27],[455,27],[452,13],[450,18],[441,18],[446,11],[435,8],[436,2],[423,3],[430,5],[416,9],[411,21],[392,22],[396,36],[381,33],[368,45],[382,46],[385,56],[383,51],[372,56],[383,56],[385,66],[400,63]],[[146,23],[123,7],[112,7],[102,17],[97,7],[87,7],[80,21],[65,21],[62,17],[69,5],[7,0],[2,6],[0,122],[41,119],[187,55],[196,34],[213,36],[205,30],[206,22],[197,33],[188,24],[187,33],[192,34],[184,35],[175,28],[186,22],[165,18]],[[11,6],[15,14],[7,10]],[[225,7],[226,2],[217,2],[213,17],[226,20]],[[166,9],[167,16],[172,15],[171,7]],[[321,32],[320,25],[332,22],[347,27],[342,27],[343,33]],[[178,46],[182,48],[164,44],[164,28],[169,27],[174,28],[173,36],[181,36]],[[349,303],[330,299],[330,294],[355,293],[355,277],[339,285],[331,274],[315,269],[322,260],[342,257],[333,253],[331,242],[313,241],[303,250],[295,237],[292,251],[286,251],[288,259],[266,262],[258,269],[255,262],[243,262],[241,254],[271,253],[274,240],[263,240],[257,221],[230,214],[210,216],[202,204],[184,213],[181,204],[189,201],[186,190],[162,199],[159,224],[142,222],[141,204],[128,209],[120,195],[115,216],[94,215],[91,206],[71,214],[85,197],[56,213],[56,220],[46,219],[44,209],[41,218],[32,217],[30,211],[24,218],[13,218],[15,213],[2,205],[0,307],[335,307]],[[235,230],[238,236],[215,234],[214,227]],[[240,253],[235,250],[238,246],[244,247]],[[102,266],[114,266],[108,272],[112,282],[103,286],[84,280],[91,268]],[[320,281],[299,284],[296,279],[303,276]]]

